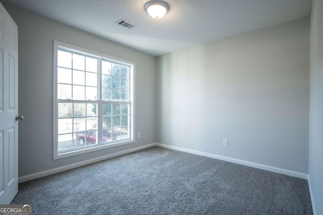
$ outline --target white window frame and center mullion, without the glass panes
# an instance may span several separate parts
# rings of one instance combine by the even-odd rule
[[[97,83],[97,88],[98,88],[98,99],[97,100],[90,100],[87,101],[85,100],[71,100],[72,102],[77,102],[77,101],[81,101],[84,102],[85,104],[88,103],[96,103],[97,102],[97,108],[98,108],[98,119],[97,119],[97,124],[99,124],[98,127],[98,134],[97,136],[101,136],[102,135],[102,117],[103,117],[103,104],[104,103],[108,103],[108,104],[114,104],[114,103],[122,103],[123,101],[103,101],[102,100],[102,73],[101,73],[101,61],[102,60],[106,60],[112,63],[118,63],[121,65],[127,65],[129,66],[129,91],[128,91],[128,96],[129,96],[129,101],[125,102],[130,104],[130,110],[129,110],[129,114],[130,114],[130,129],[129,129],[129,138],[125,139],[125,140],[119,140],[119,141],[112,141],[111,143],[108,144],[99,144],[98,141],[98,145],[97,146],[93,146],[93,147],[82,147],[80,149],[77,150],[73,150],[73,151],[67,151],[67,152],[63,152],[60,153],[58,152],[58,104],[59,102],[62,102],[61,99],[58,99],[58,51],[59,49],[63,49],[66,51],[70,51],[70,52],[74,52],[76,54],[81,54],[81,55],[85,55],[85,56],[89,56],[89,57],[95,57],[98,58],[98,83]],[[129,61],[129,60],[125,60],[125,59],[121,59],[118,57],[114,57],[114,56],[110,56],[110,55],[106,55],[106,54],[102,54],[102,53],[98,53],[95,51],[91,51],[85,48],[80,48],[74,45],[70,45],[70,44],[66,44],[63,42],[59,42],[59,41],[53,41],[53,111],[52,111],[52,119],[53,119],[53,160],[57,160],[57,159],[62,159],[62,158],[67,158],[67,157],[71,157],[71,156],[76,156],[76,155],[81,155],[81,154],[85,154],[85,153],[90,153],[90,152],[94,152],[94,151],[98,151],[98,150],[104,150],[104,149],[109,149],[109,148],[113,148],[113,147],[118,147],[118,146],[123,146],[123,145],[127,145],[127,144],[132,144],[135,142],[135,62]],[[64,102],[64,101],[63,101]],[[68,102],[68,100],[65,100],[65,102]],[[74,131],[72,131],[74,132]]]

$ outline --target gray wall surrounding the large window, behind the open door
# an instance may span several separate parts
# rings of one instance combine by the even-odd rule
[[[4,5],[19,29],[19,177],[151,144],[155,141],[155,57]],[[53,161],[53,40],[136,63],[135,144]]]

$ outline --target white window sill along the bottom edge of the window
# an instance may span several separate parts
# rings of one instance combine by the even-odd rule
[[[100,145],[100,146],[91,147],[91,148],[79,149],[79,150],[76,150],[73,152],[65,152],[65,153],[54,155],[53,160],[68,158],[68,157],[72,157],[72,156],[76,156],[76,155],[82,155],[82,154],[86,154],[86,153],[90,153],[90,152],[109,149],[109,148],[113,148],[113,147],[119,147],[119,146],[123,146],[123,145],[127,145],[127,144],[133,144],[134,142],[135,141],[133,139],[130,139],[130,140],[128,139],[128,140],[122,141],[122,142],[114,142],[112,144],[105,144],[105,145]]]

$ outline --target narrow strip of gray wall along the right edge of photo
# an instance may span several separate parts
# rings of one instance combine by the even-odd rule
[[[310,44],[309,184],[316,214],[323,214],[323,1],[313,0]]]

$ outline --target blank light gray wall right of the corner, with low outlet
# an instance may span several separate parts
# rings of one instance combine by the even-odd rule
[[[160,144],[307,173],[309,18],[160,56],[156,78]]]

